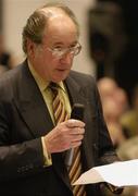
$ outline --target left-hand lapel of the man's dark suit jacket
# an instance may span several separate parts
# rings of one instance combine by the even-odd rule
[[[27,63],[21,69],[18,88],[14,89],[14,102],[32,135],[38,137],[48,133],[53,127],[53,123]]]

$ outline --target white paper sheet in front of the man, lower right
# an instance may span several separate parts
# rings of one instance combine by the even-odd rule
[[[95,167],[83,173],[74,185],[99,182],[108,182],[115,186],[137,186],[138,159]]]

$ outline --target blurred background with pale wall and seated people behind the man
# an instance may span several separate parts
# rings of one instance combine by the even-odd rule
[[[48,0],[0,0],[0,75],[21,63],[27,17]],[[83,51],[73,70],[98,84],[113,145],[123,160],[138,159],[138,2],[61,0],[75,12]],[[91,100],[92,101],[92,100]],[[112,195],[104,189],[106,196]],[[124,196],[138,196],[127,187]]]

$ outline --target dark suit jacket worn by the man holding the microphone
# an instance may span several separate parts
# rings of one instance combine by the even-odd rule
[[[71,105],[85,105],[83,170],[116,160],[92,77],[71,71],[65,85]],[[52,154],[52,166],[43,168],[40,137],[52,128],[25,61],[0,78],[0,195],[72,195],[64,154]],[[99,186],[87,185],[86,189],[95,196]]]

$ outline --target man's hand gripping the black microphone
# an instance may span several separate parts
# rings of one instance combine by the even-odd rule
[[[79,120],[67,120],[58,124],[45,136],[49,154],[61,152],[81,145],[85,123]]]

